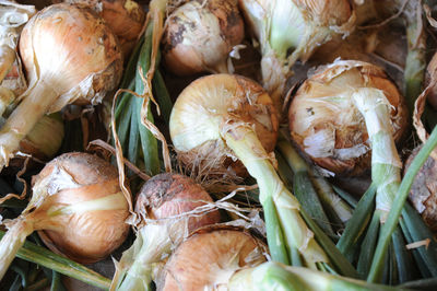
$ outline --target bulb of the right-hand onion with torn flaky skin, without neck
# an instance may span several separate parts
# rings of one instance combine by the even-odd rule
[[[369,136],[352,97],[363,88],[383,93],[391,105],[393,138],[401,141],[408,123],[404,98],[375,65],[338,60],[320,67],[293,97],[288,110],[292,139],[330,174],[359,175],[370,166]]]

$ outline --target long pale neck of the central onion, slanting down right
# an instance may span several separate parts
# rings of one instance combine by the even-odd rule
[[[264,211],[270,211],[267,205],[273,201],[280,225],[269,225],[267,221],[267,228],[273,228],[270,234],[268,231],[269,247],[285,243],[288,254],[293,252],[292,248],[297,249],[310,268],[316,268],[318,261],[328,261],[327,255],[300,217],[299,202],[285,188],[253,130],[247,126],[236,126],[224,132],[223,138],[249,174],[257,179]],[[277,232],[281,231],[285,242],[277,241]],[[273,260],[280,259],[273,257]]]

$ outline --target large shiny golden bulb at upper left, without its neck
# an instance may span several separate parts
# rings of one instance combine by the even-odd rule
[[[83,7],[59,3],[43,9],[24,26],[19,47],[29,88],[44,82],[60,95],[50,112],[70,101],[97,104],[121,78],[117,37]],[[92,81],[81,84],[87,78]]]

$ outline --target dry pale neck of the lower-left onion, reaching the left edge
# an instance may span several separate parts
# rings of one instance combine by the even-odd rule
[[[26,220],[25,217],[19,218],[11,224],[0,241],[0,280],[19,249],[23,246],[26,237],[34,231],[33,221]]]

